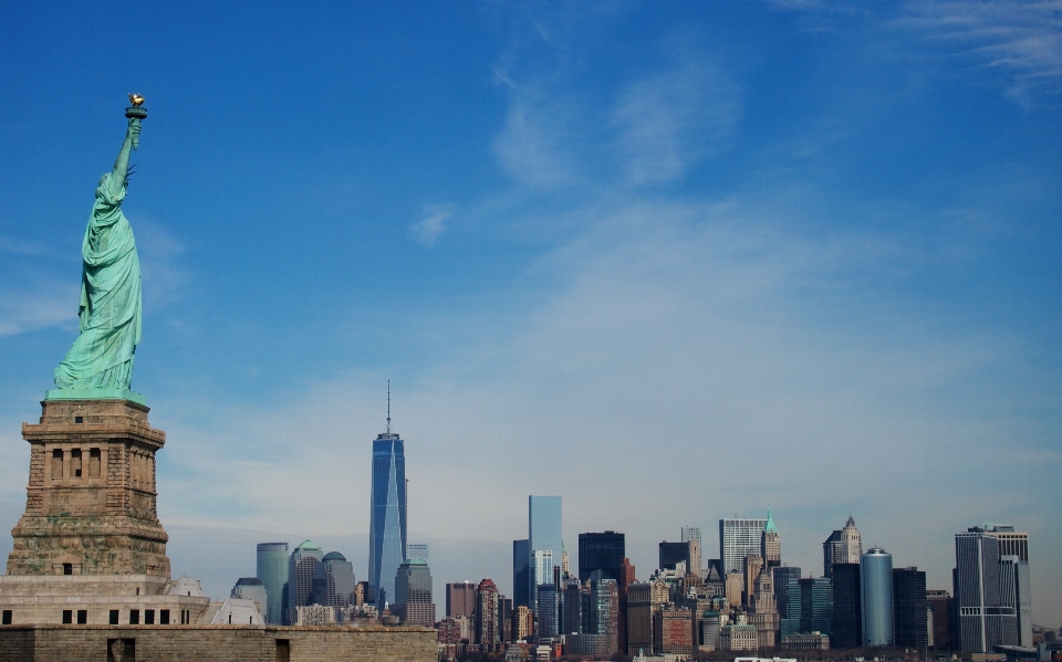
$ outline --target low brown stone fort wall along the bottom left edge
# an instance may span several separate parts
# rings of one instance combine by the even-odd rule
[[[0,626],[0,662],[436,662],[425,628]]]

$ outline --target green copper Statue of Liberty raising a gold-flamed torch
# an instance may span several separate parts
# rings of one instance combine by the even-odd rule
[[[49,400],[126,398],[133,393],[133,361],[140,341],[140,263],[133,229],[122,213],[128,185],[129,151],[139,143],[144,98],[129,95],[128,128],[114,168],[100,179],[96,200],[82,243],[80,332],[55,368],[55,390]]]

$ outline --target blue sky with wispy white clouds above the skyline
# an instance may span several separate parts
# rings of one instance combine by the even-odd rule
[[[952,534],[1012,523],[1062,620],[1059,2],[0,12],[4,526],[138,92],[134,388],[211,592],[275,535],[364,576],[389,378],[437,589],[508,590],[561,494],[639,578],[771,506],[791,565],[852,512],[950,588]]]

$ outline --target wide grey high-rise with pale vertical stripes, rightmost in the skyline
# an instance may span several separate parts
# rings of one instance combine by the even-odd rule
[[[1001,548],[1016,554],[1002,555]],[[952,575],[964,651],[988,653],[1021,642],[1022,602],[1028,600],[1031,610],[1028,554],[1028,535],[1009,525],[985,524],[955,534]]]

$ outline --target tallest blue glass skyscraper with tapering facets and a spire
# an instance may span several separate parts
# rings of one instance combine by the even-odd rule
[[[373,442],[372,514],[368,525],[368,586],[376,606],[394,600],[395,576],[406,558],[405,442],[391,431],[391,383],[387,430]]]

